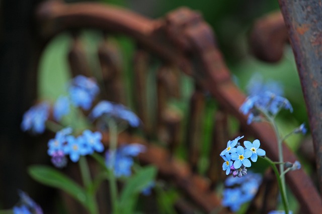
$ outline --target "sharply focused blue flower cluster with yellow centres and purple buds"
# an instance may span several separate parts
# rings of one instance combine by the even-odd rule
[[[237,137],[232,141],[229,140],[227,147],[220,153],[220,156],[224,160],[222,169],[226,171],[226,175],[232,173],[234,177],[241,177],[247,174],[246,167],[251,167],[252,165],[248,158],[256,162],[258,155],[265,156],[266,154],[265,150],[260,148],[261,143],[259,140],[254,140],[253,143],[244,141],[245,148],[241,146],[238,140],[243,137]]]

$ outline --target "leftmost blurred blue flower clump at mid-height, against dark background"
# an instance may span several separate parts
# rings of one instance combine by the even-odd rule
[[[42,102],[31,107],[23,116],[21,129],[31,131],[34,134],[41,134],[45,131],[45,122],[49,116],[48,103]]]

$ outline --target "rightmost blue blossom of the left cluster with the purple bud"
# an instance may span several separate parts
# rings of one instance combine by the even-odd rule
[[[102,152],[104,150],[101,132],[92,132],[90,130],[85,130],[83,132],[84,141],[89,147],[89,153],[92,154],[94,151]]]

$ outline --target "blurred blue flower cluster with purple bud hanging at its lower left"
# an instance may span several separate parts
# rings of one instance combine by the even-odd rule
[[[48,154],[52,157],[51,161],[56,167],[66,165],[66,155],[69,155],[73,162],[77,162],[81,155],[93,154],[94,151],[104,150],[102,134],[98,131],[83,131],[82,135],[74,137],[71,135],[70,127],[58,131],[55,138],[48,142]]]

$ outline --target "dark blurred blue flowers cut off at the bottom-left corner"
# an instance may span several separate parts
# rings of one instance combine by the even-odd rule
[[[19,191],[20,201],[14,206],[14,214],[43,214],[41,207],[24,191]]]

